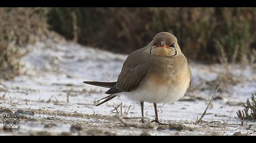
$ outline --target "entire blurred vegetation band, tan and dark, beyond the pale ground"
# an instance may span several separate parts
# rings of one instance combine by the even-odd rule
[[[21,47],[35,39],[55,38],[52,33],[129,54],[156,33],[171,32],[190,60],[255,62],[256,8],[0,8],[0,20],[4,78],[18,74],[19,58],[26,54],[19,52]]]

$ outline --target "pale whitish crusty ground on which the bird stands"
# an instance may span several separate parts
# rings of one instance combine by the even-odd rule
[[[194,122],[218,84],[214,81],[221,65],[190,63],[191,91],[174,104],[158,105],[160,120],[177,127],[149,124],[154,119],[149,103],[144,107],[149,127],[139,127],[140,105],[123,96],[95,107],[94,101],[107,89],[83,81],[115,81],[126,57],[72,42],[30,45],[30,53],[21,61],[23,74],[0,82],[0,116],[20,110],[20,132],[4,133],[0,121],[0,135],[256,135],[256,122],[244,121],[241,126],[236,118],[241,102],[256,92],[255,69],[249,66],[232,67],[235,85],[228,84],[216,94],[199,125]],[[121,102],[125,121],[137,126],[117,119],[114,107]],[[117,110],[121,112],[121,106]]]

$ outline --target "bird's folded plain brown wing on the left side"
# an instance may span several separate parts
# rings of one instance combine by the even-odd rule
[[[116,88],[120,91],[132,91],[146,77],[149,65],[143,52],[147,48],[141,48],[130,54],[124,62],[121,73],[116,82]]]

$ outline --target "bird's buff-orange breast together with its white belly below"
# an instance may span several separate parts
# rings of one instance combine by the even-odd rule
[[[182,71],[182,70],[180,70]],[[136,101],[172,103],[182,98],[190,84],[190,73],[185,68],[182,72],[150,73],[129,93]]]

